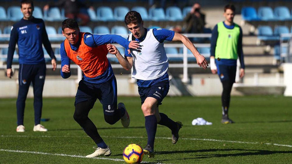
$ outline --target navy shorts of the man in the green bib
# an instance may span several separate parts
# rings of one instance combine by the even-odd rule
[[[235,82],[236,66],[217,65],[218,75],[222,81]]]

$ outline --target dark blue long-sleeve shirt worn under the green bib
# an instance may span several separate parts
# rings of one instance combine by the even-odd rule
[[[228,26],[224,22],[224,27],[227,29],[233,29],[234,25]],[[237,45],[237,55],[240,61],[240,67],[245,68],[244,66],[244,59],[243,59],[243,51],[242,51],[242,29],[240,29],[239,38],[238,38],[238,45]],[[215,27],[212,30],[212,36],[211,36],[211,50],[210,55],[215,57],[215,48],[217,44],[217,38],[218,38],[218,25],[216,24]],[[232,59],[221,59],[220,61],[216,61],[216,63],[220,62],[221,64],[227,64],[227,65],[236,65],[236,61]]]

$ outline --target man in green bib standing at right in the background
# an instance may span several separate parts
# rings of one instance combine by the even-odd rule
[[[215,25],[211,37],[211,71],[213,74],[218,73],[223,86],[221,95],[221,122],[223,124],[234,123],[228,117],[228,109],[230,105],[230,92],[235,82],[237,58],[240,61],[239,77],[242,78],[244,76],[242,30],[238,24],[233,22],[234,15],[235,7],[233,5],[226,5],[223,13],[225,20]]]

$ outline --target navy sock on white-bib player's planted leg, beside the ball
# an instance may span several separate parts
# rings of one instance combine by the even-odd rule
[[[145,116],[145,128],[148,136],[147,144],[150,144],[150,146],[154,148],[154,139],[157,130],[157,120],[155,115]]]

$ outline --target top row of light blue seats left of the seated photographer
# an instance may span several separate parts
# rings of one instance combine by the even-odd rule
[[[176,6],[163,8],[150,8],[149,11],[143,6],[135,6],[131,10],[138,11],[145,21],[181,21],[190,12],[192,7],[185,7],[183,10]],[[100,6],[95,10],[83,9],[81,12],[88,13],[91,21],[124,21],[126,13],[130,11],[128,7],[117,6],[113,10],[108,6]],[[46,21],[62,21],[65,19],[64,9],[52,7],[47,11],[42,11],[35,6],[33,16]],[[19,21],[23,17],[19,6],[10,6],[7,13],[4,7],[0,6],[0,21]]]

